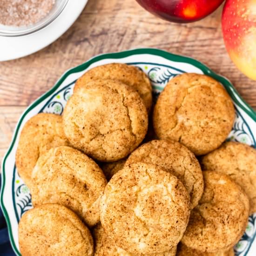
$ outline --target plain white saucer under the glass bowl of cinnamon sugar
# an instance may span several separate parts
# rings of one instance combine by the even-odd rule
[[[0,61],[8,61],[33,54],[54,42],[78,18],[88,0],[70,0],[50,25],[34,34],[18,37],[0,36]]]

